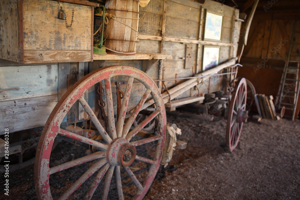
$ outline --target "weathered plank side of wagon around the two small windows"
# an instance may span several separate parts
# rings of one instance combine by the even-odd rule
[[[201,8],[204,8],[203,17],[201,16]],[[140,8],[140,22],[139,22],[139,34],[149,36],[161,36],[162,26],[162,14],[163,14],[163,1],[151,0],[149,4]],[[205,1],[204,4],[200,4],[195,1],[185,0],[167,0],[166,1],[166,26],[165,37],[181,38],[198,40],[203,38],[205,13],[212,12],[223,16],[223,29],[220,42],[233,43],[234,47],[222,46],[220,49],[220,63],[224,62],[233,56],[236,56],[233,52],[236,52],[238,34],[240,23],[235,24],[235,19],[238,19],[238,10],[232,7],[228,7],[217,3],[215,1]],[[202,27],[200,26],[202,23]],[[201,27],[201,28],[200,28]],[[201,35],[199,35],[201,31]],[[237,36],[237,37],[236,37]],[[234,38],[237,38],[234,40]],[[201,40],[201,39],[200,39]],[[208,40],[209,41],[209,40]],[[137,43],[138,52],[159,52],[160,41],[155,40],[140,40]],[[164,60],[161,66],[161,78],[173,79],[181,77],[193,76],[196,72],[202,70],[202,50],[203,45],[197,46],[197,44],[189,44],[191,46],[192,61],[191,66],[185,66],[185,52],[186,44],[177,42],[164,42],[162,53],[171,54],[172,60]],[[199,53],[197,48],[199,47]],[[234,49],[235,48],[235,49]],[[197,56],[199,54],[200,56]],[[198,59],[198,61],[197,61]],[[199,63],[197,65],[197,63]],[[156,66],[158,67],[158,66]],[[219,79],[221,77],[217,77]],[[214,78],[216,79],[216,78]],[[183,82],[184,80],[166,81],[165,85],[168,88],[175,86],[176,84]],[[211,83],[211,92],[220,89],[220,82]],[[217,84],[217,85],[214,85]],[[209,85],[207,81],[207,85]],[[199,87],[199,85],[198,85]],[[205,91],[205,86],[202,85],[202,91]],[[201,90],[200,89],[200,90]],[[191,91],[187,91],[180,95],[178,98],[188,97],[190,95],[198,94],[198,90],[193,88]]]

